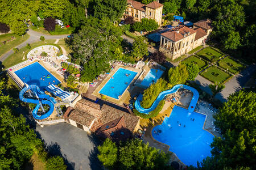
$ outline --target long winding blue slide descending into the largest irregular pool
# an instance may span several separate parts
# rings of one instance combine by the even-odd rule
[[[195,88],[184,85],[184,84],[177,84],[174,87],[172,87],[170,90],[160,92],[160,94],[158,95],[154,103],[148,109],[144,109],[143,107],[141,107],[141,101],[142,101],[143,95],[142,94],[139,95],[137,100],[135,101],[135,105],[134,105],[135,109],[141,113],[149,114],[151,111],[154,111],[154,109],[158,106],[159,102],[163,100],[166,95],[173,94],[180,88],[184,88],[193,92],[193,97],[188,107],[188,111],[192,113],[195,110],[197,100],[199,99],[199,93]]]

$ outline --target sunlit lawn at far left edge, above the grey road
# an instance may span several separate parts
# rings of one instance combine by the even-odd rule
[[[15,37],[16,39],[7,42],[7,40],[11,40],[11,37]],[[28,37],[30,37],[28,34],[24,35],[23,37],[15,35],[14,33],[0,35],[0,56],[2,56],[2,54],[5,54],[9,50],[15,48],[15,46],[22,44],[22,42],[26,41]],[[2,41],[6,41],[6,44],[3,45]]]

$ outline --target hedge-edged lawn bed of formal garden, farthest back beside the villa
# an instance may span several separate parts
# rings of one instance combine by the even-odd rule
[[[217,50],[214,50],[210,47],[207,47],[199,52],[196,53],[197,56],[203,57],[204,59],[207,59],[211,62],[216,62],[220,57],[223,56],[223,54],[217,52]]]

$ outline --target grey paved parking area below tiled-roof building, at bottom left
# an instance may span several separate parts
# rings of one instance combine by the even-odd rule
[[[97,140],[75,126],[59,123],[36,126],[51,155],[64,157],[68,169],[102,169],[97,159]]]

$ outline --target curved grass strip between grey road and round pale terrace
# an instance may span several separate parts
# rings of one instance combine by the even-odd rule
[[[36,46],[40,46],[40,45],[55,45],[57,46],[58,48],[60,48],[59,45],[57,44],[53,44],[53,42],[55,42],[56,40],[46,40],[46,41],[38,41],[38,42],[35,42],[33,44],[30,44],[31,46],[31,49],[33,48],[36,48]],[[47,42],[47,44],[46,44]],[[24,54],[23,54],[23,51],[24,51]],[[5,66],[5,68],[9,68],[11,66],[14,66],[20,62],[23,62],[27,59],[27,53],[30,51],[30,49],[27,49],[26,46],[24,46],[23,48],[19,49],[18,53],[14,53],[14,54],[11,54],[8,58],[6,58],[2,65]],[[61,48],[60,48],[60,54],[62,53],[61,51]],[[25,56],[25,59],[23,60],[23,56]]]

